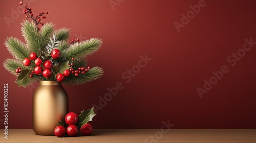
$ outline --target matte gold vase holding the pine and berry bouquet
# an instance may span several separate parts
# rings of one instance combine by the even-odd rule
[[[69,113],[69,97],[58,81],[40,81],[32,99],[32,127],[37,135],[54,135]]]

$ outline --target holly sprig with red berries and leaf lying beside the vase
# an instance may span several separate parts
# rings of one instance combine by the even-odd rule
[[[54,133],[56,132],[55,135],[58,137],[64,136],[64,131],[59,131],[63,130],[62,127],[67,128],[66,132],[69,136],[76,136],[79,131],[82,135],[92,134],[93,127],[88,122],[92,121],[92,118],[96,115],[93,109],[94,107],[87,111],[83,110],[79,116],[77,116],[77,114],[74,112],[68,113],[65,117],[66,123],[59,121],[59,123],[57,124],[57,127],[54,130]]]

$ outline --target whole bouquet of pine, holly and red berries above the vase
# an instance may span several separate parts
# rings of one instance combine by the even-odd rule
[[[24,4],[20,2],[19,5]],[[69,44],[70,29],[55,30],[52,22],[42,22],[48,12],[35,13],[24,5],[23,13],[26,18],[21,23],[21,31],[25,42],[8,37],[5,45],[14,59],[6,59],[3,63],[17,77],[18,86],[56,80],[66,85],[80,85],[103,75],[102,68],[91,68],[86,63],[86,58],[99,50],[100,39],[72,39]]]

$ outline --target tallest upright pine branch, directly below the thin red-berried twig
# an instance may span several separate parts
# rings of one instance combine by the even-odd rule
[[[41,49],[41,41],[36,31],[37,29],[33,21],[26,20],[22,23],[22,35],[31,51],[38,55],[38,51]]]

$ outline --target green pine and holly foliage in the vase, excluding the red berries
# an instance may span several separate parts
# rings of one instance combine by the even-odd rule
[[[24,36],[26,43],[17,38],[7,38],[5,45],[14,59],[6,59],[3,63],[6,70],[18,77],[16,80],[18,86],[26,87],[38,80],[56,80],[56,74],[62,73],[65,69],[69,69],[69,64],[71,64],[71,62],[74,63],[74,66],[72,66],[74,69],[77,69],[78,67],[86,67],[86,57],[96,52],[102,44],[101,40],[92,38],[69,45],[68,38],[70,36],[70,29],[61,28],[54,31],[53,23],[46,23],[39,31],[37,31],[37,27],[33,21],[26,20],[21,23],[21,25],[22,35]],[[53,49],[59,49],[61,51],[59,59],[53,59],[51,57],[51,51]],[[29,77],[31,71],[35,67],[35,63],[34,61],[31,61],[30,66],[24,66],[23,60],[24,58],[29,58],[29,55],[32,52],[35,52],[37,57],[41,58],[43,62],[45,60],[52,61],[54,65],[52,69],[52,78],[46,79],[42,77],[42,75],[33,75],[32,78]],[[75,58],[75,60],[72,61],[72,58]],[[17,67],[21,67],[23,70],[20,75],[15,73]],[[71,76],[67,77],[63,83],[67,85],[85,84],[100,78],[102,75],[103,69],[96,66],[92,67],[85,74],[79,74],[78,77],[71,74]]]

